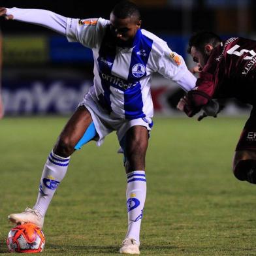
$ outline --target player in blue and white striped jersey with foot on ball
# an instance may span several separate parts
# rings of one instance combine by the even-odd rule
[[[94,58],[93,86],[65,125],[46,161],[35,206],[11,214],[9,219],[42,227],[71,154],[89,140],[96,140],[100,146],[104,136],[116,131],[127,173],[128,231],[120,253],[140,253],[140,223],[146,199],[145,155],[153,125],[152,74],[159,72],[185,91],[194,88],[195,77],[182,56],[172,52],[165,41],[140,28],[140,12],[129,1],[114,7],[110,20],[80,20],[48,10],[21,8],[0,8],[0,15],[53,29],[66,35],[70,42],[91,48]]]

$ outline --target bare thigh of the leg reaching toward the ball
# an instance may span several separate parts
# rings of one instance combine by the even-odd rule
[[[61,131],[57,144],[67,144],[74,148],[91,124],[91,114],[85,106],[79,106]]]

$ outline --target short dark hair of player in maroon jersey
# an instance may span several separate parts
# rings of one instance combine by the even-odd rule
[[[195,48],[200,50],[200,52],[204,52],[204,46],[206,44],[212,44],[213,47],[216,47],[219,42],[221,42],[221,38],[215,33],[211,31],[198,31],[189,39],[189,47],[187,48],[187,52],[191,54],[192,46],[195,46]]]

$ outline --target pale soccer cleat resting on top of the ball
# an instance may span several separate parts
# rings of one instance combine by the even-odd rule
[[[33,223],[40,229],[42,229],[42,226],[44,225],[44,217],[40,216],[39,211],[31,208],[26,208],[25,211],[20,214],[10,214],[8,219],[17,225]]]

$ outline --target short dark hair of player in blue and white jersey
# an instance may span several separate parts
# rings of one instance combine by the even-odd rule
[[[130,1],[121,1],[118,3],[112,10],[114,16],[120,19],[125,19],[131,16],[134,16],[138,20],[140,20],[140,10]]]

